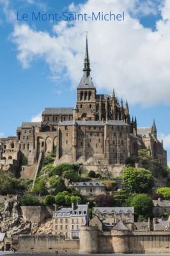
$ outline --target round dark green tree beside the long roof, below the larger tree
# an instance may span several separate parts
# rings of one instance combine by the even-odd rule
[[[148,218],[152,216],[153,202],[151,196],[147,194],[134,194],[128,197],[127,207],[133,206],[135,215]]]

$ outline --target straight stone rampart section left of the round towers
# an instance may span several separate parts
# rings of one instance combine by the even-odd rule
[[[65,240],[58,236],[27,236],[20,235],[18,240],[19,252],[38,253],[76,253],[79,252],[79,240]]]

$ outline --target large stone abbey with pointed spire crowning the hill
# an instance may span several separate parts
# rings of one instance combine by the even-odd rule
[[[128,157],[137,159],[139,149],[148,150],[152,159],[167,164],[166,150],[157,139],[155,121],[138,128],[131,118],[128,102],[112,95],[97,94],[91,78],[86,38],[82,79],[77,87],[74,108],[45,108],[42,122],[24,122],[17,136],[0,139],[0,169],[35,166],[41,157],[55,152],[57,163],[93,166],[123,166]]]

